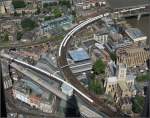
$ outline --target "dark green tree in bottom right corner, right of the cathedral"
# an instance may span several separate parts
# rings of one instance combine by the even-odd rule
[[[141,113],[144,106],[144,97],[136,95],[132,101],[132,111],[134,113]]]

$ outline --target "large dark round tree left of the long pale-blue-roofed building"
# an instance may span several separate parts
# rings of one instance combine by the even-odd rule
[[[24,30],[29,31],[37,27],[37,24],[35,21],[31,20],[30,18],[25,18],[21,21],[21,26]]]

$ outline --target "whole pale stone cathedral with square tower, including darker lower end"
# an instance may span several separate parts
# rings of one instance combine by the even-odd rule
[[[116,104],[119,104],[118,106],[124,112],[132,111],[130,99],[132,96],[136,95],[134,86],[135,78],[136,76],[127,74],[127,65],[120,63],[116,67],[115,76],[108,74],[104,84],[104,87],[106,88],[105,93],[111,95],[113,101]]]

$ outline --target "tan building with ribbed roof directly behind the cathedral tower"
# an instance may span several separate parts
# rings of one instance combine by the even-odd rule
[[[150,58],[150,53],[143,48],[121,48],[116,51],[117,63],[127,64],[128,67],[141,66]]]

